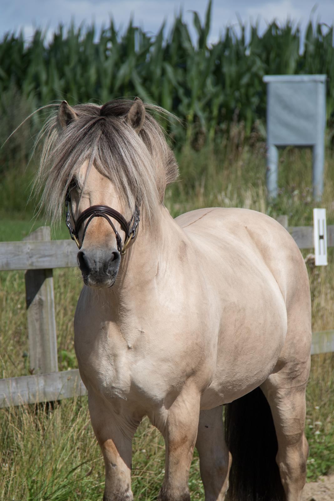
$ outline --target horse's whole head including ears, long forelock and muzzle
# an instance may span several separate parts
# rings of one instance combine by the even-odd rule
[[[55,218],[66,199],[84,283],[111,287],[125,247],[137,236],[139,210],[145,225],[152,224],[166,184],[177,176],[174,155],[138,98],[102,107],[71,108],[63,101],[48,127],[40,167],[46,181],[42,203]]]

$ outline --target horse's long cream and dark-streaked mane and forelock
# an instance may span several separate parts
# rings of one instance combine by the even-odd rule
[[[163,200],[168,183],[177,178],[178,166],[158,122],[150,113],[139,134],[125,120],[133,101],[113,100],[103,106],[79,104],[73,107],[78,120],[61,129],[57,114],[44,124],[36,143],[43,142],[40,166],[34,186],[42,190],[41,208],[52,222],[58,222],[67,190],[87,160],[109,178],[126,208],[133,211],[140,201],[152,221],[156,204]],[[167,113],[145,104],[147,110]],[[89,169],[88,169],[89,170]]]

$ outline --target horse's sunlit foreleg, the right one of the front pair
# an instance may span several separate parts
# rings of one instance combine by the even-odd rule
[[[179,394],[159,426],[166,444],[165,478],[159,501],[190,501],[188,478],[196,442],[199,403],[197,392]]]

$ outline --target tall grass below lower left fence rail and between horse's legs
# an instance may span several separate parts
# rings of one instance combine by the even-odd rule
[[[104,462],[90,424],[87,398],[64,400],[52,412],[34,406],[3,411],[0,498],[101,501]],[[28,439],[29,436],[29,439]],[[164,442],[145,419],[133,441],[135,499],[156,499],[164,475]],[[192,499],[203,499],[197,454]]]

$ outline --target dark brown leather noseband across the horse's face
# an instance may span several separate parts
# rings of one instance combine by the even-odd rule
[[[129,243],[131,240],[133,240],[136,236],[136,230],[137,226],[139,224],[140,220],[140,212],[139,212],[139,207],[136,204],[135,205],[135,210],[134,213],[130,219],[129,222],[125,219],[125,217],[120,214],[117,210],[108,207],[108,205],[92,205],[91,207],[88,207],[88,209],[83,210],[79,216],[77,221],[74,220],[74,227],[72,226],[71,223],[71,213],[73,217],[73,211],[72,211],[72,202],[71,202],[71,195],[70,191],[68,191],[66,198],[65,198],[65,206],[66,206],[66,226],[69,228],[70,235],[72,240],[76,242],[78,245],[78,248],[80,249],[82,247],[84,238],[85,238],[85,233],[87,230],[87,226],[91,222],[91,220],[94,217],[104,217],[110,224],[110,226],[113,228],[113,231],[116,236],[116,242],[117,242],[117,250],[120,254],[125,254],[126,248],[128,247]],[[110,220],[108,217],[112,217],[113,219],[116,219],[117,222],[120,223],[121,228],[123,229],[125,233],[125,239],[124,239],[124,245],[122,245],[122,238],[117,229],[115,228],[114,223]],[[74,219],[74,217],[73,217]],[[79,231],[82,226],[82,224],[88,219],[88,221],[85,224],[84,227],[84,232],[82,235],[82,242],[80,245],[79,242]]]

